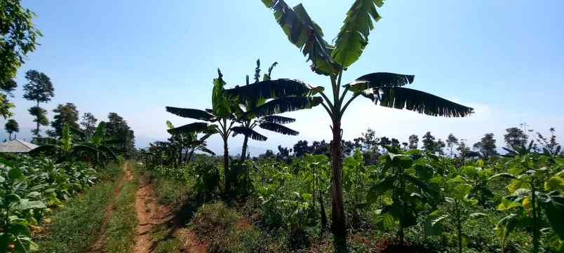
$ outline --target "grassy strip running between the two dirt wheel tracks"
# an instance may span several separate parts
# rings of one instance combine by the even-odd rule
[[[107,253],[129,252],[135,243],[135,193],[139,186],[138,173],[133,162],[129,163],[133,180],[126,181],[114,202],[114,212],[108,221],[104,249]]]

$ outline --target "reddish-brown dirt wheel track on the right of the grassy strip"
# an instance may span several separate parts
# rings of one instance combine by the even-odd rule
[[[153,226],[164,224],[170,220],[170,209],[157,203],[153,188],[147,184],[145,177],[140,179],[140,186],[135,198],[137,213],[137,237],[132,253],[150,253],[154,249],[151,237]]]

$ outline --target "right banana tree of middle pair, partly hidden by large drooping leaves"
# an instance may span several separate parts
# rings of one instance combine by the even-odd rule
[[[268,74],[264,74],[262,81],[269,81],[272,76],[272,69],[278,64],[274,62],[268,69]],[[255,68],[255,83],[260,82],[260,60],[257,60],[257,67]],[[249,76],[247,76],[246,85],[249,85]],[[279,99],[279,98],[276,98]],[[283,135],[298,135],[299,132],[287,128],[283,124],[292,123],[295,121],[294,118],[287,118],[283,116],[257,116],[255,114],[255,109],[266,103],[266,99],[259,100],[239,100],[238,103],[241,106],[242,114],[239,116],[241,124],[234,127],[233,130],[237,134],[244,135],[243,137],[243,150],[241,151],[241,160],[246,160],[248,140],[254,139],[260,142],[264,142],[268,137],[255,132],[254,128],[259,127],[264,130],[269,130],[272,132],[278,132]]]

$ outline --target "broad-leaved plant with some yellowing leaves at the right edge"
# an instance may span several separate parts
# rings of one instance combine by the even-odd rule
[[[538,253],[541,235],[547,234],[552,247],[564,252],[564,170],[550,166],[549,157],[539,153],[523,153],[509,161],[507,173],[491,179],[511,179],[510,192],[497,210],[510,212],[499,221],[495,234],[502,245],[515,228],[532,228],[532,252]],[[542,224],[549,226],[542,228]]]

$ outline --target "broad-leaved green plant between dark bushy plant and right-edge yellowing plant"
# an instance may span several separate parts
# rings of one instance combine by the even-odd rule
[[[470,167],[466,166],[464,170],[469,171]],[[478,170],[474,172],[477,173]],[[470,174],[476,174],[474,172]],[[481,212],[471,212],[473,207],[478,204],[478,200],[471,197],[474,187],[471,180],[464,174],[448,179],[444,187],[445,201],[443,205],[438,210],[431,212],[427,219],[425,219],[425,234],[440,235],[445,231],[445,228],[448,228],[450,231],[456,231],[458,252],[462,253],[462,249],[464,249],[466,242],[468,242],[468,236],[464,234],[463,229],[464,221],[487,215]]]

